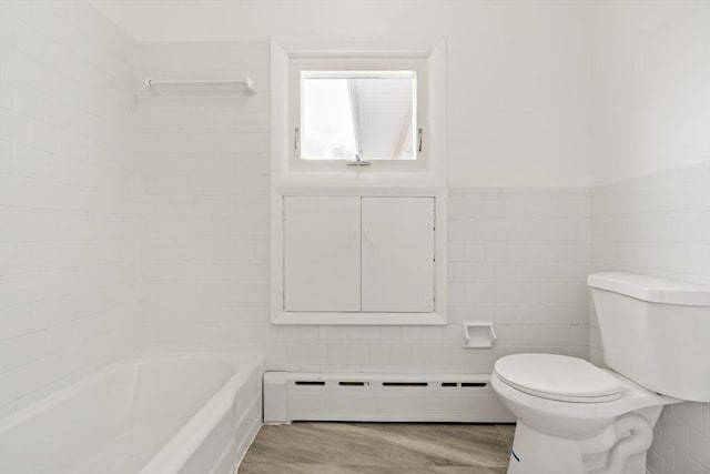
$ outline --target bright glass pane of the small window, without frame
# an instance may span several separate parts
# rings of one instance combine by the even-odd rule
[[[303,71],[302,158],[413,160],[414,71]]]

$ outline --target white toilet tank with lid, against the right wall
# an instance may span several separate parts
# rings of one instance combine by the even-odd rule
[[[633,273],[595,273],[604,359],[636,383],[710,402],[710,286]]]

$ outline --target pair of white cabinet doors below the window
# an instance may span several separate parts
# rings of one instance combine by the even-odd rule
[[[435,311],[435,200],[284,198],[286,312]]]

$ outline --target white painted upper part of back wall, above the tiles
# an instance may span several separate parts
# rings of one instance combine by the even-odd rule
[[[141,41],[252,42],[272,36],[446,38],[450,185],[589,184],[589,54],[582,3],[93,3]]]

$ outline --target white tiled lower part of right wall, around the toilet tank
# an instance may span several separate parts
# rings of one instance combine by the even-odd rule
[[[594,271],[710,283],[710,162],[591,190]],[[591,316],[591,357],[601,363]],[[649,452],[653,474],[710,474],[710,404],[666,407]]]

